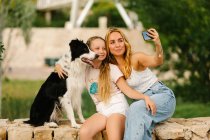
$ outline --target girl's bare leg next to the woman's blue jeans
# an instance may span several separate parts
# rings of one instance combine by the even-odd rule
[[[122,140],[125,130],[125,116],[114,113],[107,119],[106,132],[108,140]]]

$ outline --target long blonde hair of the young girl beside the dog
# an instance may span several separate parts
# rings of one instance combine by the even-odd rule
[[[100,36],[90,37],[86,43],[90,49],[91,49],[91,43],[96,39],[101,39],[105,43],[105,40]],[[107,51],[107,47],[106,47],[106,51]],[[106,57],[100,65],[100,73],[99,73],[99,79],[98,79],[98,93],[102,101],[107,102],[110,99],[110,95],[111,95],[110,82],[111,82],[110,67],[109,67],[108,58]]]

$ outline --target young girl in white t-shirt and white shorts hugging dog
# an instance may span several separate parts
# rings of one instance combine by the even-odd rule
[[[125,112],[128,108],[124,94],[132,99],[144,99],[148,108],[151,108],[153,112],[155,112],[155,105],[148,96],[131,89],[118,67],[108,63],[103,38],[91,37],[87,44],[99,55],[98,59],[93,62],[94,68],[89,67],[86,71],[87,89],[96,105],[97,113],[82,125],[79,132],[80,140],[91,140],[104,129],[106,129],[109,140],[122,140]]]

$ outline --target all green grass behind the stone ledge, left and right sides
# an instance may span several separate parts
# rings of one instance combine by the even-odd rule
[[[10,120],[28,118],[31,104],[44,81],[3,80],[2,117]],[[85,118],[95,113],[95,106],[85,90],[83,98],[83,115]],[[177,100],[173,117],[192,118],[210,116],[210,103],[190,103]]]

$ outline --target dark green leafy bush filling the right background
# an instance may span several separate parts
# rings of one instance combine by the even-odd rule
[[[175,87],[177,96],[189,101],[209,101],[210,1],[132,0],[128,3],[146,28],[158,29],[166,60],[172,59],[172,52],[178,54],[176,62],[168,63],[177,77],[185,78],[185,72],[190,71],[189,79]]]

